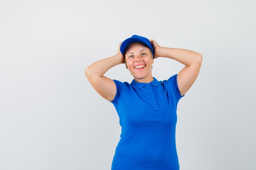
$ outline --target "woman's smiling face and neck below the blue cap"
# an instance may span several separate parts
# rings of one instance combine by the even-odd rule
[[[126,55],[126,68],[137,82],[152,82],[152,64],[154,59],[148,47],[141,44],[128,46]]]

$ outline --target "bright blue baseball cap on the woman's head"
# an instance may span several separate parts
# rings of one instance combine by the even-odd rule
[[[148,48],[151,49],[152,55],[153,55],[153,58],[154,58],[154,51],[153,51],[153,47],[152,47],[150,41],[149,41],[147,38],[141,37],[141,36],[139,36],[139,35],[132,35],[132,37],[127,38],[126,40],[124,40],[124,41],[122,42],[122,44],[121,44],[121,46],[120,46],[120,51],[121,51],[121,53],[122,53],[123,55],[124,55],[124,50],[126,49],[126,47],[127,47],[130,43],[132,43],[132,42],[142,42],[142,43],[146,44],[146,46],[148,46]]]

